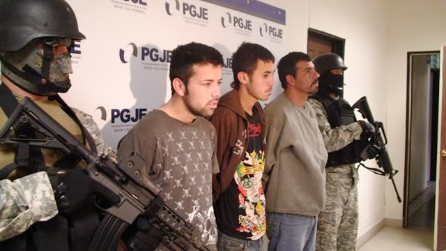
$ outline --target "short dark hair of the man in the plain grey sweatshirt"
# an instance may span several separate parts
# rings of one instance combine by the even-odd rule
[[[312,59],[303,52],[290,52],[286,54],[286,56],[282,57],[277,63],[277,72],[279,73],[280,84],[282,84],[282,88],[286,89],[288,83],[286,82],[286,75],[293,75],[295,77],[298,72],[298,68],[296,66],[299,61],[312,61]]]

